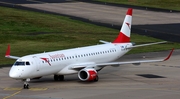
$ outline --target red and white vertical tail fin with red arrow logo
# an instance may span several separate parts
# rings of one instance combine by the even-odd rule
[[[130,34],[131,34],[131,24],[132,24],[132,8],[129,8],[123,25],[121,27],[120,33],[118,37],[113,41],[113,43],[128,43],[130,42]]]

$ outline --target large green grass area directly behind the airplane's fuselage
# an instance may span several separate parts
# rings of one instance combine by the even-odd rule
[[[0,65],[12,64],[15,61],[4,58],[8,44],[11,45],[12,55],[24,56],[94,45],[101,39],[112,41],[119,33],[119,30],[72,20],[69,17],[5,7],[0,9]],[[162,41],[134,33],[131,40],[137,44]],[[130,53],[162,51],[173,47],[180,48],[180,44],[171,42],[136,48]]]

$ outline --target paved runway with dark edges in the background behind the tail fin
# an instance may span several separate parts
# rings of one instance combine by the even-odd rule
[[[0,5],[68,16],[76,20],[119,29],[127,7],[73,0],[0,0]],[[129,6],[131,7],[131,6]],[[133,6],[132,6],[133,8]],[[133,11],[132,32],[180,42],[180,13],[138,8]]]

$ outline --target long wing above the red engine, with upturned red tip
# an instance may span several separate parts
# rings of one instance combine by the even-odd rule
[[[99,63],[99,64],[96,64],[96,63],[82,63],[82,64],[76,64],[76,65],[73,65],[71,67],[71,69],[82,69],[82,68],[95,68],[95,67],[105,67],[105,66],[117,66],[117,65],[122,65],[122,64],[140,64],[140,63],[150,63],[150,62],[162,62],[162,61],[166,61],[168,60],[172,53],[173,53],[173,50],[171,50],[171,52],[169,53],[169,55],[164,58],[164,59],[157,59],[157,60],[139,60],[139,61],[126,61],[126,62],[109,62],[109,63]]]

